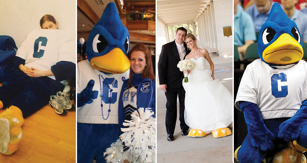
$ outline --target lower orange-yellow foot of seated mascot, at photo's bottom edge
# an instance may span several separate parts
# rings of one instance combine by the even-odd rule
[[[273,163],[306,163],[306,157],[302,153],[286,148],[274,155]]]

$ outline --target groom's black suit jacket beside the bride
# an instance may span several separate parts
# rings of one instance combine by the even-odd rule
[[[189,53],[185,47],[185,56]],[[182,86],[183,72],[179,70],[177,64],[180,61],[175,40],[164,44],[158,62],[159,84],[166,84],[167,88],[179,88]]]

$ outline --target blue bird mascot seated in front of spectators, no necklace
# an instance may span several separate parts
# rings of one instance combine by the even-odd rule
[[[303,162],[307,150],[307,63],[297,25],[274,3],[258,37],[260,59],[249,64],[235,107],[248,134],[235,151],[239,162]],[[276,153],[277,152],[277,153]]]

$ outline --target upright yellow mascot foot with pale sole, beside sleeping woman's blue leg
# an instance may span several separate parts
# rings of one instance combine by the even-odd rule
[[[18,149],[23,123],[21,110],[15,106],[0,114],[0,153],[10,155]]]

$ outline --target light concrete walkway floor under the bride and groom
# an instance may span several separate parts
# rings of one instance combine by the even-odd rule
[[[232,56],[211,59],[215,66],[215,77],[232,93]],[[157,163],[233,162],[232,135],[223,138],[213,138],[212,134],[196,138],[181,136],[179,103],[177,103],[175,140],[167,141],[165,104],[165,94],[160,89],[157,78]]]

